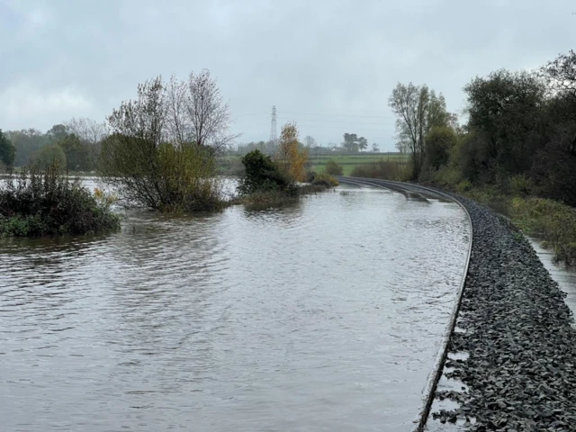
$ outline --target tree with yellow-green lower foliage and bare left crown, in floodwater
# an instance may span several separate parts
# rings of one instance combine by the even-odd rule
[[[166,88],[160,76],[138,86],[137,98],[108,117],[99,171],[124,203],[159,211],[221,207],[211,148],[170,133]]]

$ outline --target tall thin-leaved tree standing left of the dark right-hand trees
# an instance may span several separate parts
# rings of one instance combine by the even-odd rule
[[[446,126],[449,115],[446,112],[444,96],[437,96],[427,85],[403,85],[398,83],[388,101],[396,114],[396,130],[401,143],[408,144],[412,158],[412,177],[418,178],[426,148],[424,139],[434,126]]]

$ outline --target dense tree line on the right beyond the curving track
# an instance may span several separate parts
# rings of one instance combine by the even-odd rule
[[[398,84],[389,104],[410,178],[438,184],[521,185],[576,205],[576,53],[535,71],[499,69],[464,86],[467,119],[427,85]]]

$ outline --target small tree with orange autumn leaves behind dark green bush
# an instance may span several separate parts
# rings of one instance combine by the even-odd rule
[[[298,142],[296,124],[293,122],[284,124],[275,154],[275,162],[280,170],[293,181],[303,182],[306,179],[308,156],[308,149],[301,148]]]

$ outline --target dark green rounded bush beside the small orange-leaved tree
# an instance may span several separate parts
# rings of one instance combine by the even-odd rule
[[[275,162],[260,150],[253,150],[242,157],[242,165],[244,165],[245,175],[238,183],[238,193],[242,195],[266,191],[287,191],[293,185],[293,182],[280,171]]]

